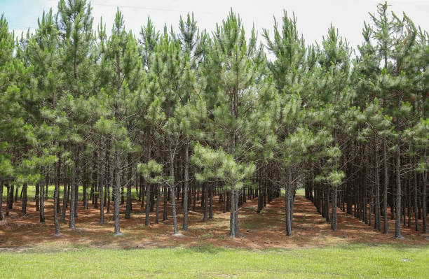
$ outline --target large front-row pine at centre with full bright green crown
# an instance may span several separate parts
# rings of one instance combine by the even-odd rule
[[[214,152],[222,158],[225,156],[222,148],[225,148],[229,159],[232,159],[231,164],[236,166],[235,170],[246,170],[245,173],[229,173],[229,178],[223,178],[231,194],[230,236],[235,237],[238,234],[238,190],[243,187],[243,183],[239,180],[234,182],[233,178],[240,177],[243,180],[243,174],[250,176],[254,170],[245,150],[252,150],[249,146],[254,128],[252,115],[257,107],[257,90],[264,83],[259,73],[264,67],[265,57],[262,49],[257,48],[254,31],[247,42],[241,19],[231,10],[222,26],[217,26],[208,59],[206,67],[218,71],[214,76],[217,79],[207,82],[207,90],[211,88],[216,91],[207,92],[206,95],[207,108],[212,115],[209,117],[212,136],[215,146],[219,148],[217,151],[196,148],[194,152]],[[215,94],[216,99],[213,100],[210,94]],[[207,161],[200,163],[205,167],[210,164]],[[207,178],[200,176],[200,180]]]

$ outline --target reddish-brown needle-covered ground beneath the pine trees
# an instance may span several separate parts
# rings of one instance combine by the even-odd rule
[[[28,214],[20,214],[20,202],[14,203],[13,210],[6,221],[0,222],[0,248],[151,248],[214,245],[219,247],[236,247],[247,249],[261,248],[311,248],[322,245],[347,243],[402,243],[405,245],[429,244],[429,236],[411,228],[402,226],[404,239],[393,237],[395,222],[390,220],[388,235],[381,234],[368,224],[346,215],[338,210],[338,231],[330,229],[330,224],[320,216],[313,203],[297,196],[294,206],[293,236],[285,234],[284,200],[275,199],[257,214],[257,199],[247,201],[240,209],[240,234],[237,238],[229,237],[229,213],[222,213],[222,206],[214,198],[214,218],[203,220],[203,208],[189,212],[189,230],[181,231],[183,237],[172,236],[171,208],[168,208],[169,220],[155,224],[155,213],[151,213],[151,227],[144,226],[144,208],[139,202],[132,204],[132,214],[125,220],[125,205],[121,206],[121,232],[125,236],[114,236],[113,215],[105,213],[106,224],[98,224],[100,209],[90,205],[84,210],[79,202],[78,229],[68,229],[68,220],[60,224],[61,236],[54,236],[53,203],[46,202],[46,223],[39,223],[39,212],[35,210],[34,201],[28,204]],[[162,219],[162,205],[160,206]],[[178,206],[179,229],[182,227],[182,206]],[[112,210],[113,211],[113,210]],[[67,212],[68,215],[69,212]],[[160,220],[161,220],[160,219]]]

